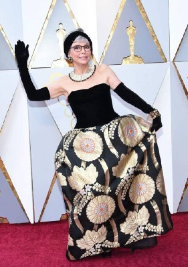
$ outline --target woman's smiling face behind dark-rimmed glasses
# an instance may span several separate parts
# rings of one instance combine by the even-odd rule
[[[72,48],[69,49],[68,56],[73,58],[73,63],[79,63],[79,64],[87,64],[91,59],[91,50],[85,51],[84,47],[82,47],[82,50],[80,52],[76,52],[73,48],[73,46],[76,45],[89,45],[89,42],[73,42],[71,45]]]

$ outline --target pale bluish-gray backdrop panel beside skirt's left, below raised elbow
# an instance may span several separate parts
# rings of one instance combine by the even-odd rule
[[[54,155],[62,138],[44,101],[29,101],[29,133],[35,222],[38,222],[55,173]]]

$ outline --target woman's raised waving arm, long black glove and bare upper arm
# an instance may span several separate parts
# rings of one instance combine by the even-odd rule
[[[15,45],[15,57],[18,63],[18,70],[20,72],[20,77],[23,83],[23,87],[26,91],[29,100],[44,101],[61,96],[63,94],[61,78],[43,88],[40,89],[35,88],[31,80],[31,77],[29,75],[29,70],[27,67],[27,60],[29,58],[28,47],[29,45],[25,47],[24,42],[18,40],[17,44]]]

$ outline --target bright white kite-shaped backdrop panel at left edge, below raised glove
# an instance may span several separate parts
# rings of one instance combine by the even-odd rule
[[[33,222],[28,108],[21,82],[1,131],[0,155],[26,214]]]

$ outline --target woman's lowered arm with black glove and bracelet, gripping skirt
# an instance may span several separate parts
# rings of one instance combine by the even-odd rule
[[[162,123],[158,110],[153,108],[140,96],[126,87],[126,85],[124,85],[124,83],[118,79],[115,72],[108,65],[105,66],[108,75],[108,83],[112,90],[114,90],[114,92],[117,93],[118,96],[120,96],[127,103],[132,104],[134,107],[137,107],[143,112],[150,114],[153,119],[153,126],[156,131],[161,128]]]

